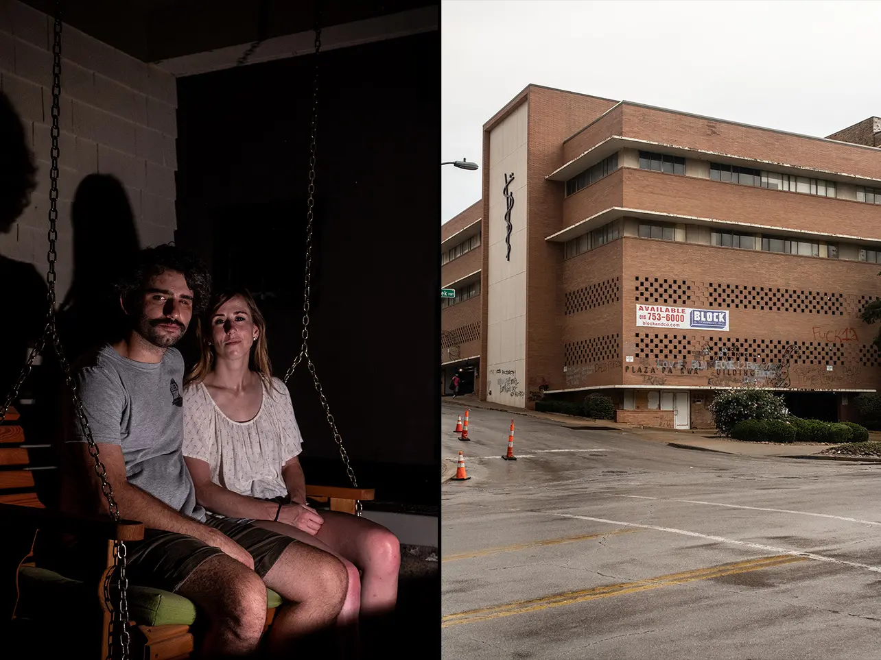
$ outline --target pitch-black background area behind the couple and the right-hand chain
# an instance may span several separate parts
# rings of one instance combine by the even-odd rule
[[[439,52],[435,32],[318,55],[309,324],[359,486],[435,506]],[[301,343],[314,72],[308,55],[178,80],[176,241],[255,293],[278,377]],[[348,485],[305,366],[288,385],[307,480]]]

